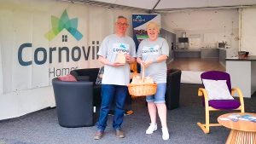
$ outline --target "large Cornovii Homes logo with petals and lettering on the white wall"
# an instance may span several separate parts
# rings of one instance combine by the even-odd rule
[[[78,31],[78,18],[70,19],[65,9],[61,14],[61,18],[51,16],[51,29],[46,34],[43,34],[49,41],[55,37],[59,37],[62,30],[67,30],[77,41],[84,37]],[[84,26],[84,25],[83,25]],[[37,27],[38,28],[38,27]],[[37,41],[36,41],[37,42]],[[62,42],[67,42],[67,35],[62,35]],[[84,40],[84,43],[88,43]],[[18,61],[20,66],[32,66],[32,65],[48,65],[52,64],[49,68],[49,78],[59,77],[68,74],[73,69],[77,69],[78,66],[70,65],[68,62],[80,61],[80,60],[96,60],[98,59],[97,52],[99,51],[100,41],[92,40],[89,45],[78,45],[80,43],[54,43],[56,45],[50,45],[48,48],[39,46],[33,47],[33,43],[22,43],[18,49]],[[59,45],[60,44],[60,45]],[[36,43],[35,45],[38,45]],[[32,50],[33,56],[27,58],[27,50]],[[67,63],[66,67],[58,66],[56,63]]]

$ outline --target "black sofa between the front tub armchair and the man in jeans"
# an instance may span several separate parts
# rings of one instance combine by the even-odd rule
[[[98,76],[100,68],[86,68],[86,69],[76,69],[70,72],[78,81],[90,81],[93,83],[93,106],[100,107],[102,103],[101,85],[96,85],[96,78]]]

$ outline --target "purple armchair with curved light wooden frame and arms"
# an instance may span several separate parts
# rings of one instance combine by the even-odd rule
[[[235,92],[239,95],[239,101],[237,100],[209,100],[207,90],[200,88],[198,89],[198,95],[202,96],[202,104],[206,109],[206,124],[197,123],[201,127],[201,130],[204,131],[205,134],[210,132],[210,126],[220,126],[220,124],[210,124],[210,111],[222,111],[222,110],[239,110],[244,112],[244,102],[243,95],[241,94],[241,90],[238,88],[231,89],[230,83],[230,74],[227,72],[219,72],[219,71],[209,71],[203,72],[201,74],[201,79],[211,79],[211,80],[226,80],[228,89],[231,95],[234,95]]]

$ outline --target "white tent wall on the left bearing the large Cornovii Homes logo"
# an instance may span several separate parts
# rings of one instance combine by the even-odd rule
[[[101,66],[97,50],[119,14],[131,19],[81,3],[0,1],[0,119],[54,107],[52,78]]]

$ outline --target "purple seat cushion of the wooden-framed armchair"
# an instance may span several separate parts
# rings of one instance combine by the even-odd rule
[[[209,106],[221,110],[230,110],[240,107],[240,102],[236,100],[211,100]]]

